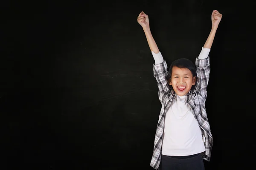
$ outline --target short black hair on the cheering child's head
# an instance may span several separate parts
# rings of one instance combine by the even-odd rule
[[[171,80],[172,80],[172,68],[176,66],[178,68],[187,68],[191,71],[193,77],[195,77],[195,83],[197,82],[197,74],[196,74],[196,67],[195,64],[190,61],[189,59],[186,58],[181,58],[181,59],[176,59],[175,61],[172,62],[170,68],[169,68],[169,74],[167,75],[167,79],[168,79],[168,84],[170,84]],[[192,85],[193,89],[195,88],[195,85]]]

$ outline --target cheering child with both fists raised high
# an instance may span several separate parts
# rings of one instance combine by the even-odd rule
[[[162,104],[150,164],[156,170],[204,170],[203,159],[210,160],[213,140],[205,109],[208,54],[221,17],[212,11],[212,30],[195,65],[189,59],[177,59],[169,72],[152,37],[148,15],[142,11],[137,18],[155,60],[153,71]]]

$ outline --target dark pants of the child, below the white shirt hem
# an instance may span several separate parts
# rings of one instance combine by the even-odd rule
[[[204,170],[200,153],[191,156],[162,155],[159,170]]]

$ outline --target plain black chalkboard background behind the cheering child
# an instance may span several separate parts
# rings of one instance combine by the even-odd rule
[[[252,2],[20,1],[2,8],[2,169],[153,170],[161,104],[137,16],[148,14],[170,65],[195,61],[215,9],[223,18],[209,53],[206,109],[214,144],[205,168],[254,165]]]

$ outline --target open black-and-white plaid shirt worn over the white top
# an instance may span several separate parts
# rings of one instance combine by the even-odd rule
[[[209,56],[206,59],[196,58],[195,65],[198,80],[195,88],[191,89],[187,94],[187,104],[192,108],[195,119],[201,127],[202,136],[205,138],[204,146],[206,151],[203,153],[203,159],[210,161],[213,140],[204,105],[207,98],[207,85],[210,73]],[[150,166],[157,170],[161,161],[165,114],[175,101],[176,94],[172,86],[167,82],[168,71],[166,61],[164,60],[164,62],[157,65],[154,63],[153,69],[159,89],[158,97],[162,104],[154,139],[153,156],[150,163]]]

